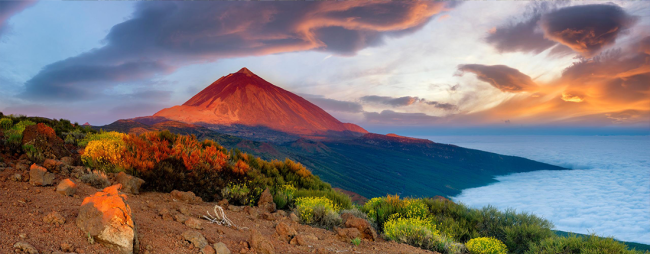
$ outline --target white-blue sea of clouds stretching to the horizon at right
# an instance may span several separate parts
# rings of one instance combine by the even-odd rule
[[[650,244],[650,136],[428,136],[572,168],[499,176],[454,200],[515,208],[555,229]]]

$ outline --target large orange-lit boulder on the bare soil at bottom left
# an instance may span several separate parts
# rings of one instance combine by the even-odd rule
[[[126,195],[116,184],[86,197],[79,208],[77,226],[95,241],[116,247],[121,253],[138,249],[137,228],[126,203]]]

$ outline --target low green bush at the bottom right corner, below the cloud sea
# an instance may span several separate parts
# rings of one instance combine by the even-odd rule
[[[627,246],[612,238],[595,235],[568,237],[549,237],[532,244],[526,254],[641,254],[643,252],[628,250]],[[649,253],[649,252],[646,252]]]

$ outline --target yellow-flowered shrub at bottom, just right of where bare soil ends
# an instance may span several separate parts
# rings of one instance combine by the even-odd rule
[[[419,217],[405,218],[393,214],[384,224],[384,234],[393,241],[428,249],[433,244],[433,238],[439,235],[439,231],[431,220]]]

